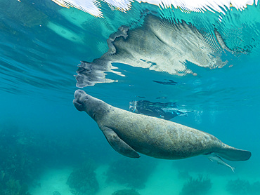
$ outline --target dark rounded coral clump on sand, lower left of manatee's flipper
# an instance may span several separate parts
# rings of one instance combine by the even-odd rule
[[[98,181],[96,180],[96,164],[93,161],[82,163],[79,168],[75,168],[67,178],[67,184],[72,188],[72,194],[91,195],[98,191]]]

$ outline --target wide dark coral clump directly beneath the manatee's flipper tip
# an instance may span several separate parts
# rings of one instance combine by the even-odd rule
[[[143,159],[122,158],[110,163],[107,182],[127,184],[129,187],[143,188],[155,168],[155,163]]]

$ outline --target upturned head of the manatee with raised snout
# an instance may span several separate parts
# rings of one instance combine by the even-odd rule
[[[101,119],[108,112],[108,105],[105,102],[86,94],[84,90],[76,90],[74,97],[74,107],[79,111],[85,111],[95,121]]]

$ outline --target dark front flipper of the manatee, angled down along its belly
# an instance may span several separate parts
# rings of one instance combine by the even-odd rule
[[[112,146],[115,151],[117,151],[119,154],[122,154],[124,156],[128,156],[131,158],[139,158],[140,155],[132,149],[126,142],[124,142],[120,137],[118,137],[117,133],[115,133],[114,130],[111,128],[103,126],[100,128],[105,137],[107,138],[108,142]]]

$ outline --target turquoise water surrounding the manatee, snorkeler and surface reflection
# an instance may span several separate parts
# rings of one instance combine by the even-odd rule
[[[0,1],[0,194],[112,194],[120,189],[134,189],[139,194],[258,194],[259,4],[242,11],[230,8],[223,13],[186,13],[134,2],[124,13],[102,2],[103,18],[96,18],[52,1]],[[149,34],[144,27],[148,15],[164,21],[161,34],[187,23],[204,38],[190,44],[182,41],[178,46],[187,48],[180,49],[182,55],[170,55],[171,51],[162,50],[161,45],[154,50],[154,39],[147,39],[145,46],[150,46],[145,55],[138,52],[130,58],[128,53],[122,54],[121,61],[112,63],[114,68],[102,72],[107,80],[82,89],[126,110],[134,100],[176,102],[179,110],[189,112],[171,121],[252,152],[249,161],[226,161],[235,167],[235,173],[203,156],[179,161],[142,154],[140,159],[121,156],[96,123],[74,108],[77,66],[106,53],[106,40],[121,25],[130,27],[129,37],[141,37],[138,30]],[[220,40],[212,41],[216,40],[214,31],[221,35],[226,48],[221,48]],[[176,44],[167,36],[163,38],[162,45]],[[131,40],[134,51],[141,41]],[[201,51],[202,56],[208,56],[208,50],[189,51],[191,43],[209,46],[214,51],[209,59],[220,61],[212,67],[192,62],[190,53]],[[117,47],[117,52],[123,53],[123,49]],[[155,59],[157,64],[148,62],[158,55],[162,57]],[[184,61],[180,64],[186,69],[173,74],[168,55],[176,62],[181,56]],[[137,66],[133,59],[142,59],[143,65],[149,66]],[[156,69],[160,63],[166,66]],[[108,79],[116,82],[105,82]],[[169,80],[176,84],[155,82]],[[77,184],[84,187],[80,190]]]

